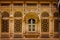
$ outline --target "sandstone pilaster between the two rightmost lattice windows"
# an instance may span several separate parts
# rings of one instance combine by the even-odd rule
[[[52,3],[50,4],[50,17],[49,17],[49,35],[53,38],[54,33],[54,22],[53,22],[53,12],[52,12]]]

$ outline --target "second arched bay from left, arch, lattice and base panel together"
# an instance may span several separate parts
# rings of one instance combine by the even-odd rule
[[[22,13],[16,11],[14,13],[14,38],[21,38],[19,33],[22,33]]]

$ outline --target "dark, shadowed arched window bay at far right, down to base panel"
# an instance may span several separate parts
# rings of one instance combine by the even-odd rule
[[[59,38],[58,12],[54,13],[54,38]]]

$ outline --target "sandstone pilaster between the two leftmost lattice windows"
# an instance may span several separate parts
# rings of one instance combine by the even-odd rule
[[[10,37],[13,38],[14,34],[14,21],[13,21],[13,4],[10,5]]]

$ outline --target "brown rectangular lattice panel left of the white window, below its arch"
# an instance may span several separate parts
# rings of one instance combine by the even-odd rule
[[[22,32],[22,19],[14,19],[14,32]]]

